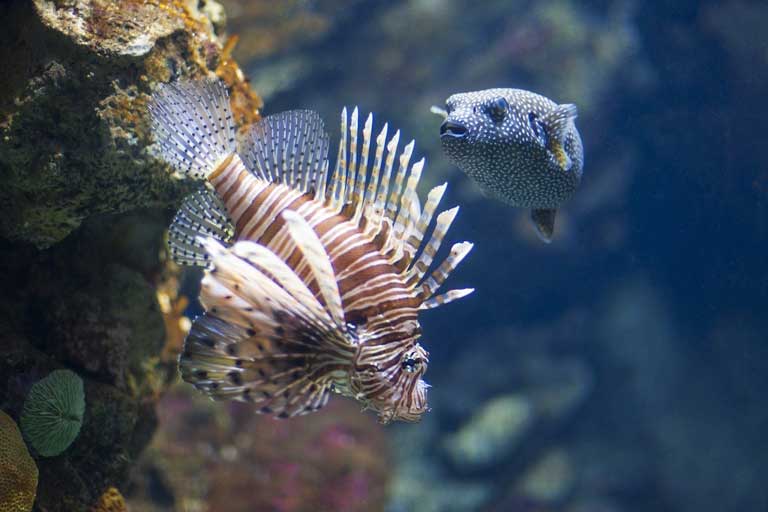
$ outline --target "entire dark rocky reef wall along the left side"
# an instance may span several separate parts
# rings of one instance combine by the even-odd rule
[[[176,297],[163,233],[190,184],[148,150],[149,95],[216,74],[241,125],[261,101],[215,2],[8,2],[0,17],[0,409],[18,423],[52,370],[83,379],[74,443],[30,451],[36,510],[89,510],[125,485],[175,378],[178,307],[158,289]]]

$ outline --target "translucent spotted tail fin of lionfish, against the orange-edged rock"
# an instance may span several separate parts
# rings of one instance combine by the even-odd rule
[[[236,149],[229,94],[218,79],[163,84],[148,108],[158,155],[183,176],[205,179]]]

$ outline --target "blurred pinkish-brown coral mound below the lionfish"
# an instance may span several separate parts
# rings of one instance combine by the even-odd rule
[[[296,421],[277,421],[253,414],[248,404],[211,402],[181,385],[163,397],[158,413],[144,473],[162,475],[149,487],[165,482],[180,510],[383,508],[384,431],[354,404],[339,400]],[[162,510],[146,495],[128,495],[128,502]]]

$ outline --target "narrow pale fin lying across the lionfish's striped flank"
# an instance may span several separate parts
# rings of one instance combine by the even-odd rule
[[[296,246],[304,256],[304,260],[317,281],[320,295],[325,301],[328,312],[334,323],[342,330],[346,329],[344,309],[341,305],[341,295],[331,260],[317,234],[307,221],[296,212],[283,211],[283,219],[288,226],[288,232]]]

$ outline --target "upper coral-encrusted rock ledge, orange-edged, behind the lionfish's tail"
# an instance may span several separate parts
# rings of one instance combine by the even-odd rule
[[[11,27],[0,56],[15,63],[0,86],[0,237],[49,247],[94,214],[174,205],[188,185],[146,151],[146,103],[159,82],[217,73],[238,122],[258,119],[261,100],[224,51],[213,4],[0,7]]]

